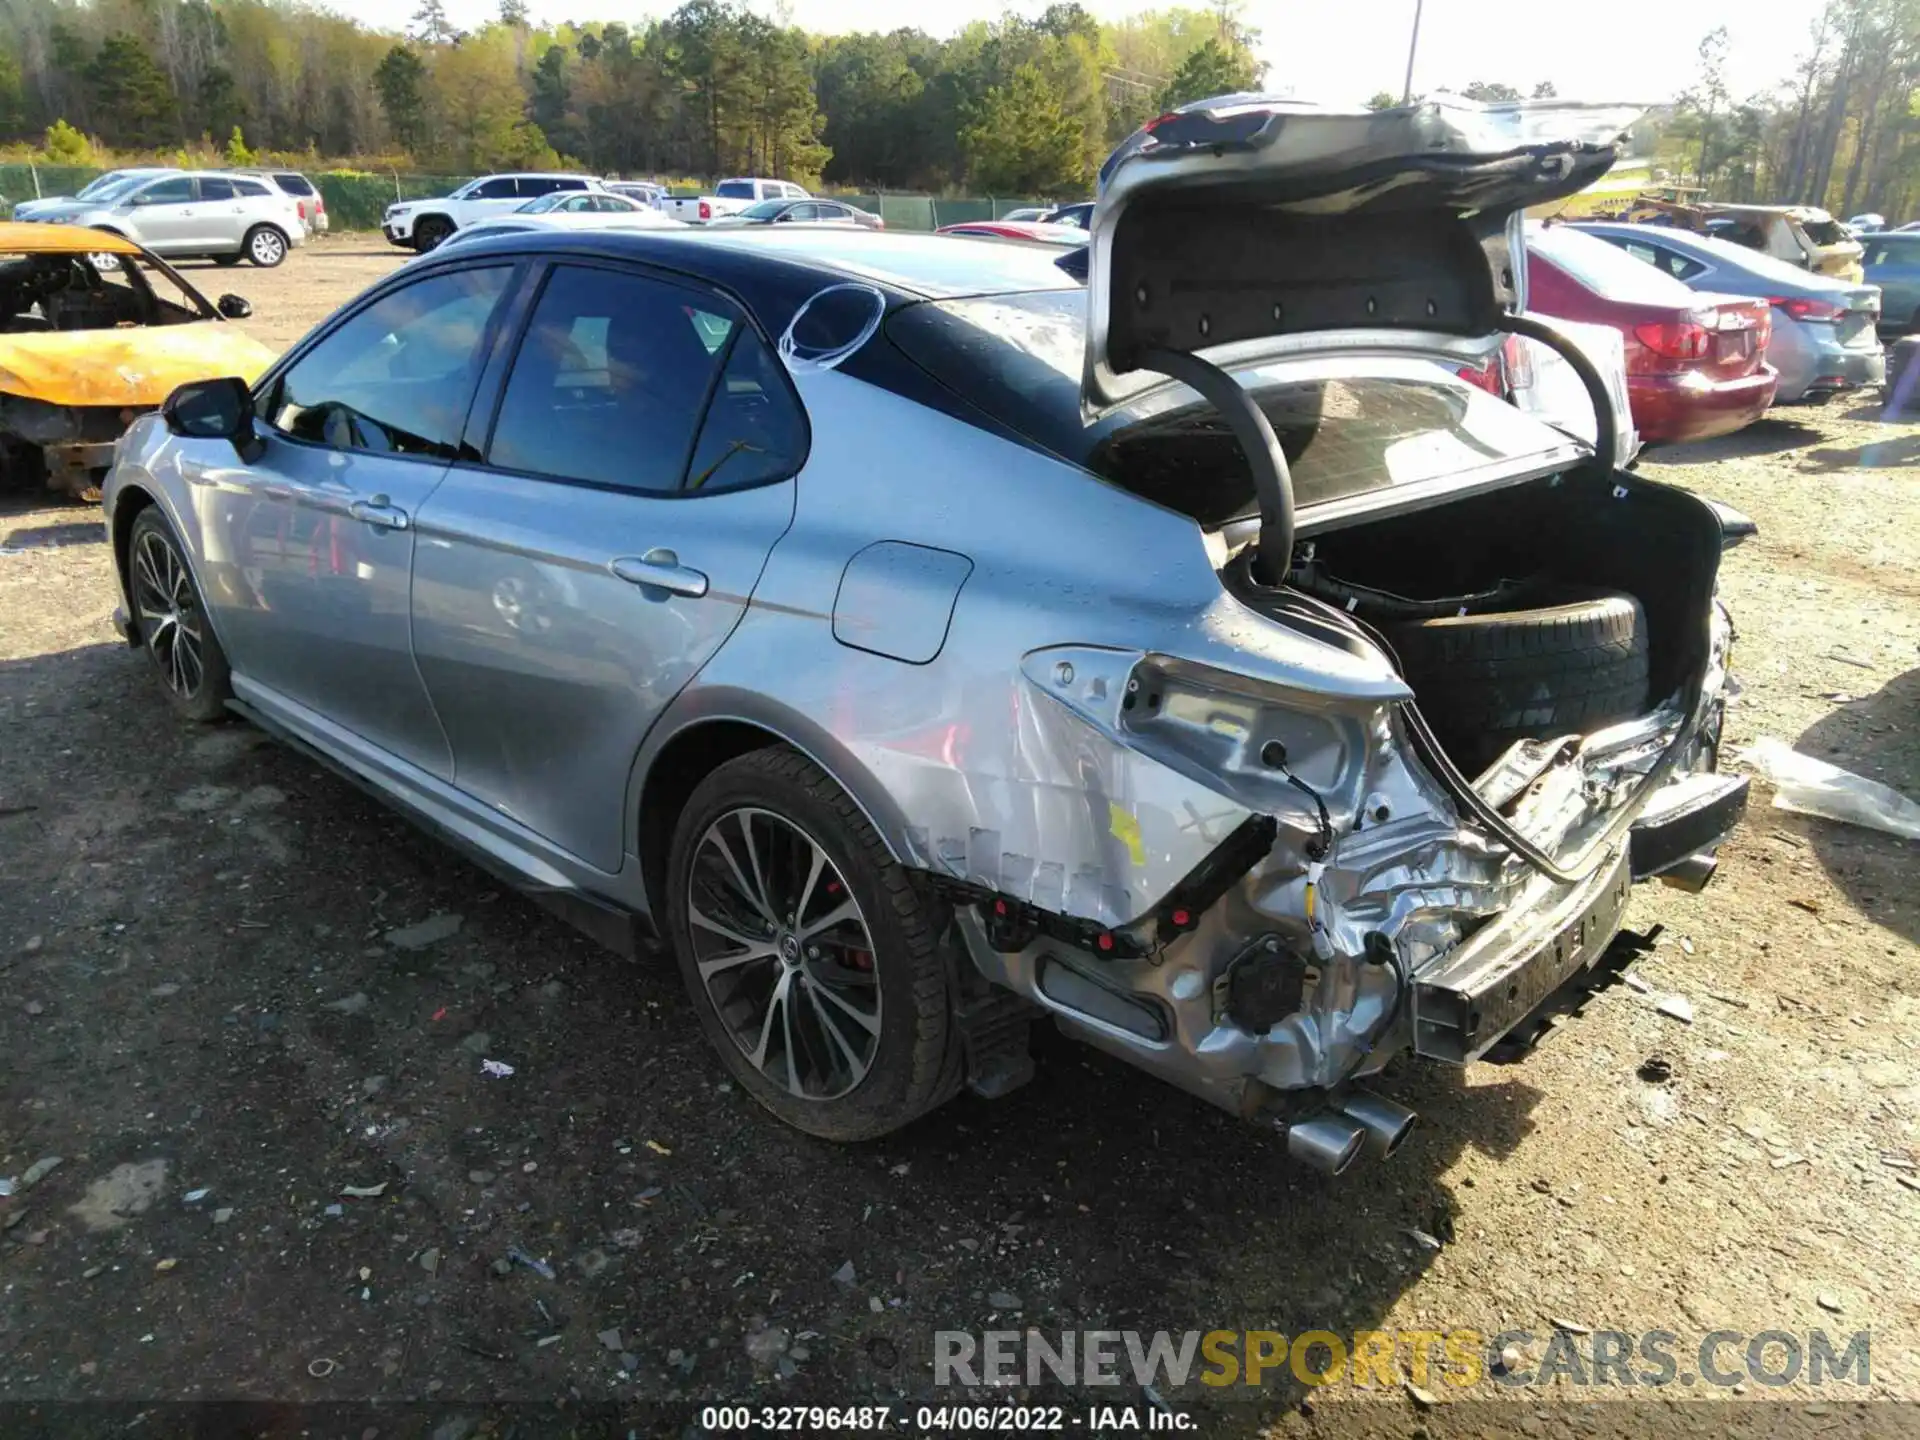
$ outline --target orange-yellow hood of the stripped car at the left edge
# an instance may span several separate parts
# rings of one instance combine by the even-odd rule
[[[232,324],[129,324],[0,336],[0,392],[50,405],[152,409],[186,380],[253,380],[273,351]]]

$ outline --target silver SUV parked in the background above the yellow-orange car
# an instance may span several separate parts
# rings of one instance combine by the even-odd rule
[[[167,259],[248,259],[269,269],[307,240],[292,196],[263,179],[225,171],[131,179],[92,200],[46,205],[33,221],[111,230]]]

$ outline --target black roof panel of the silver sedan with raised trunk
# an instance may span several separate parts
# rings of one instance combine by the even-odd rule
[[[1020,290],[1075,290],[1056,253],[1029,246],[960,244],[952,236],[847,227],[737,230],[530,230],[461,246],[543,253],[614,253],[701,275],[741,294],[755,275],[799,284],[866,282],[895,300],[954,300]]]

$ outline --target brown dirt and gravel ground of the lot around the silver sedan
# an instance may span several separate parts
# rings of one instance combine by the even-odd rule
[[[342,238],[196,278],[288,344],[396,261]],[[1916,459],[1920,426],[1862,405],[1645,465],[1761,522],[1724,580],[1732,753],[1778,735],[1920,795]],[[451,1405],[380,1411],[386,1434],[593,1428],[632,1402],[622,1428],[680,1432],[710,1402],[950,1404],[939,1329],[1511,1329],[1538,1336],[1526,1365],[1659,1329],[1688,1375],[1709,1331],[1870,1329],[1868,1388],[1747,1380],[1743,1407],[1705,1384],[1309,1394],[1284,1367],[1164,1400],[1210,1434],[1910,1428],[1860,1404],[1920,1400],[1908,841],[1763,791],[1705,895],[1638,893],[1630,924],[1663,931],[1634,983],[1521,1066],[1400,1064],[1382,1089],[1421,1129],[1342,1181],[1058,1039],[1004,1102],[831,1148],[726,1083],[668,968],[240,726],[175,724],[113,603],[96,511],[0,505],[0,1175],[60,1158],[0,1200],[0,1402]],[[457,931],[401,948],[436,916]],[[1068,1428],[1091,1400],[1152,1409],[1083,1390]],[[252,1419],[363,1434],[313,1415]]]

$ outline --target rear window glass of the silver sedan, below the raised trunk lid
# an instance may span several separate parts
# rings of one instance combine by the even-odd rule
[[[993,419],[1137,495],[1204,526],[1258,511],[1231,426],[1185,386],[1152,384],[1081,424],[1081,290],[908,305],[887,334]],[[1304,518],[1375,492],[1530,472],[1569,453],[1567,436],[1421,359],[1290,359],[1236,378],[1286,451]]]

